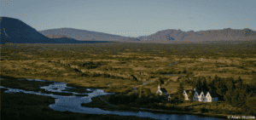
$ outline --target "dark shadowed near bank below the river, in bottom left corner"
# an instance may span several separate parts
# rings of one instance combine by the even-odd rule
[[[25,93],[4,93],[1,91],[1,118],[2,119],[37,119],[37,120],[102,120],[102,119],[134,119],[134,120],[155,120],[148,117],[126,117],[118,115],[99,115],[75,113],[71,111],[54,111],[49,108],[55,104],[55,99],[49,96]]]

